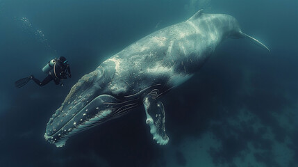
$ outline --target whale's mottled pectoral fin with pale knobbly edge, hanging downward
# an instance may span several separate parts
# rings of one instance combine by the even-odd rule
[[[147,116],[146,123],[150,127],[153,139],[160,145],[167,144],[169,137],[165,134],[165,109],[163,103],[151,95],[147,95],[143,99],[143,104]]]

